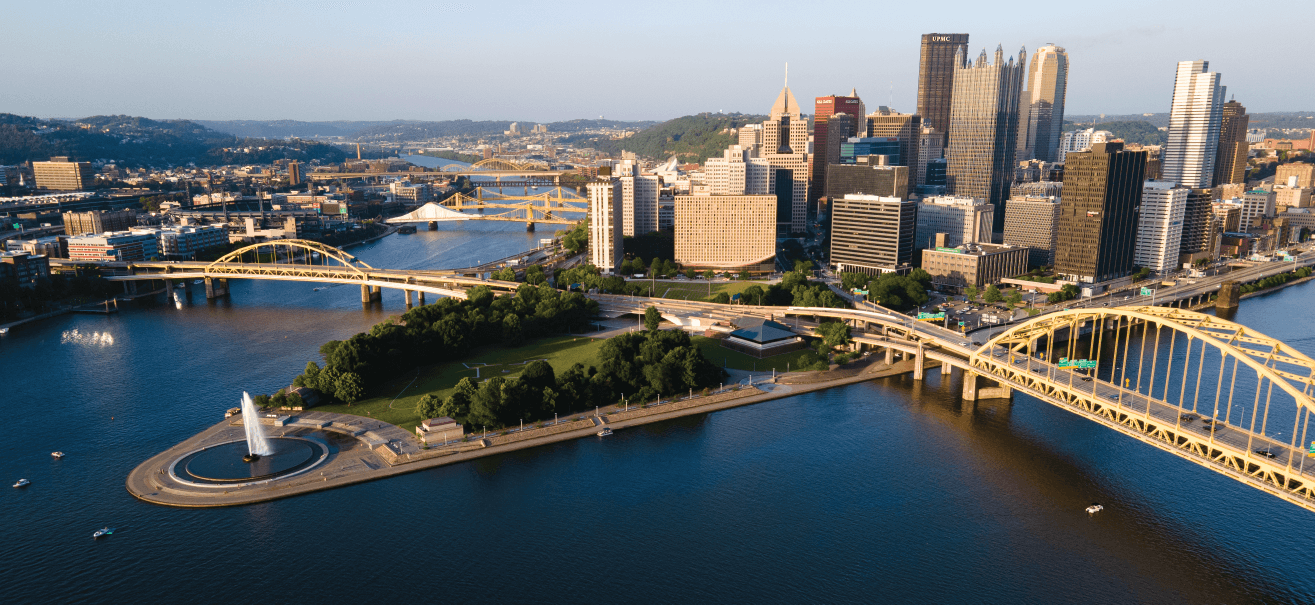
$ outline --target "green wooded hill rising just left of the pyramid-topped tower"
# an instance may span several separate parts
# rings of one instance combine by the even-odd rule
[[[668,120],[621,139],[580,137],[575,143],[593,146],[611,155],[631,151],[650,159],[667,159],[676,155],[684,162],[704,163],[707,158],[721,155],[727,146],[735,143],[736,137],[730,134],[727,129],[738,129],[746,124],[764,120],[767,116],[747,113],[700,113]],[[575,137],[569,138],[575,139]]]

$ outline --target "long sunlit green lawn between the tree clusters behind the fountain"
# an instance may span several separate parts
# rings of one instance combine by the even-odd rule
[[[421,418],[416,416],[416,404],[421,397],[434,393],[447,397],[463,377],[475,379],[475,367],[480,368],[480,379],[493,376],[513,377],[535,359],[547,359],[558,374],[567,371],[575,363],[594,364],[602,339],[586,337],[551,337],[522,345],[514,349],[488,347],[476,350],[462,362],[447,362],[421,367],[408,372],[375,389],[375,396],[356,401],[352,405],[337,404],[316,408],[323,412],[366,416],[397,425],[404,430],[416,430]],[[466,366],[471,366],[467,368]]]

